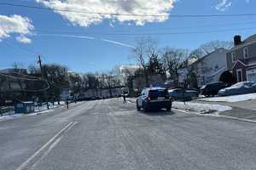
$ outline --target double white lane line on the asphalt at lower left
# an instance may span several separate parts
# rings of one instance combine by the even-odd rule
[[[36,156],[38,156],[38,154],[44,150],[50,143],[52,143],[56,138],[58,138],[58,136],[63,133],[69,126],[71,126],[73,124],[73,122],[70,122],[67,124],[66,127],[63,127],[61,129],[61,131],[59,131],[58,133],[55,134],[54,137],[52,137],[51,139],[49,139],[49,141],[44,144],[38,151],[36,151],[32,156],[30,156],[26,161],[24,161],[20,167],[18,167],[16,170],[22,170],[24,169]]]

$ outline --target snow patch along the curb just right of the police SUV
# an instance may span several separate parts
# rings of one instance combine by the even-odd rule
[[[200,113],[200,114],[215,114],[215,115],[218,115],[218,113],[222,111],[232,110],[230,106],[226,106],[226,105],[212,105],[212,104],[201,104],[201,103],[192,103],[192,102],[173,102],[172,108],[183,110],[183,111]]]

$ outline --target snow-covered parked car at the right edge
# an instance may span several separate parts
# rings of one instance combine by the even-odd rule
[[[219,96],[256,93],[256,82],[237,82],[230,88],[219,90]]]

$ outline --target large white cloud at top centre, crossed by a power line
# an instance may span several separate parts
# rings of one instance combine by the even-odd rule
[[[73,25],[90,26],[102,23],[107,19],[112,23],[135,22],[136,25],[144,25],[146,22],[163,22],[168,20],[168,12],[172,10],[177,0],[36,0],[48,8],[73,11],[90,11],[104,14],[84,14],[67,11],[55,11],[69,20]],[[106,15],[107,13],[107,15]],[[134,16],[112,14],[144,14],[164,16]]]

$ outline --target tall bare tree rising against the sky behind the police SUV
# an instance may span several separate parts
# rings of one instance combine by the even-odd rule
[[[150,57],[157,55],[157,42],[150,37],[137,39],[136,48],[132,50],[133,57],[137,60],[138,65],[143,68],[143,75],[146,86],[149,86],[148,60]]]

